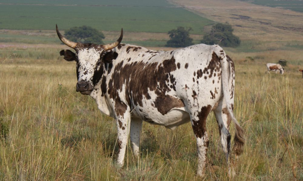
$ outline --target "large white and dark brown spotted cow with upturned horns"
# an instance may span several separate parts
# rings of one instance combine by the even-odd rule
[[[191,122],[198,150],[197,175],[203,176],[209,142],[206,118],[211,111],[227,163],[231,121],[235,125],[234,153],[242,153],[244,130],[233,113],[235,67],[220,46],[198,44],[163,52],[121,44],[123,29],[116,42],[106,45],[75,43],[62,36],[57,25],[56,31],[76,52],[60,52],[65,60],[76,62],[76,91],[90,95],[102,113],[116,119],[119,167],[124,164],[129,134],[133,153],[139,156],[143,121],[168,129]]]

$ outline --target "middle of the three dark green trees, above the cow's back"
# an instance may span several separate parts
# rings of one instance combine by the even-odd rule
[[[185,29],[184,27],[177,27],[177,29],[168,31],[170,40],[166,42],[165,46],[185,47],[193,45],[192,38],[189,37],[189,31],[191,30],[191,27],[187,29]]]

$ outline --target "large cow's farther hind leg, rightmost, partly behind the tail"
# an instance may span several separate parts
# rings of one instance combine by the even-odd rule
[[[230,165],[231,135],[229,133],[229,125],[231,122],[231,117],[226,108],[225,102],[219,103],[218,107],[214,110],[214,113],[218,122],[222,149],[225,153],[226,163],[228,164],[228,173],[234,175],[234,171],[231,170]]]

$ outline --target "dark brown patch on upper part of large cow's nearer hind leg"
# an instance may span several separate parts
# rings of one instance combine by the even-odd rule
[[[206,118],[211,111],[211,105],[203,106],[198,112],[198,120],[193,120],[192,129],[197,138],[202,138],[206,131]]]

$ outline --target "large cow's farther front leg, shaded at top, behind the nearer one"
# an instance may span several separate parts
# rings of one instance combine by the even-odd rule
[[[138,118],[132,118],[131,121],[131,142],[132,142],[132,148],[135,157],[139,157],[139,145],[140,145],[140,135],[141,135],[141,129],[142,129],[142,120]]]

